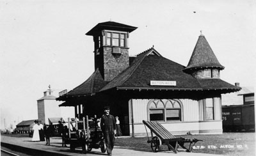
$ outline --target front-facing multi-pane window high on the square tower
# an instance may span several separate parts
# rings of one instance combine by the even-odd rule
[[[125,47],[125,34],[124,33],[106,33],[106,45]]]

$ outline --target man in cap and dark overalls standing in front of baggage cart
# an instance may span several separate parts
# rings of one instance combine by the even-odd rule
[[[108,155],[112,155],[112,150],[114,148],[114,139],[116,134],[116,120],[115,117],[109,114],[110,108],[108,106],[104,107],[104,115],[100,120],[100,129],[104,134],[104,139],[107,147]]]

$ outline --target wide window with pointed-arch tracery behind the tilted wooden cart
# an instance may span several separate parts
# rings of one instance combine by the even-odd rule
[[[150,121],[182,121],[183,107],[179,100],[150,100],[147,107]]]

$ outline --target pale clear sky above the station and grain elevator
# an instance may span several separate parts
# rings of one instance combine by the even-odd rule
[[[138,27],[129,35],[131,56],[154,45],[184,66],[202,31],[225,66],[221,79],[254,86],[255,16],[253,0],[0,0],[1,129],[36,119],[49,84],[58,97],[86,81],[94,58],[85,33],[110,20]]]

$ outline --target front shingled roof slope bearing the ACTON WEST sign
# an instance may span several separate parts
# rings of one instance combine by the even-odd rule
[[[240,90],[221,79],[196,79],[186,74],[185,66],[163,58],[154,48],[148,49],[133,61],[124,72],[117,75],[102,90]],[[150,81],[176,81],[176,86],[151,86]]]

